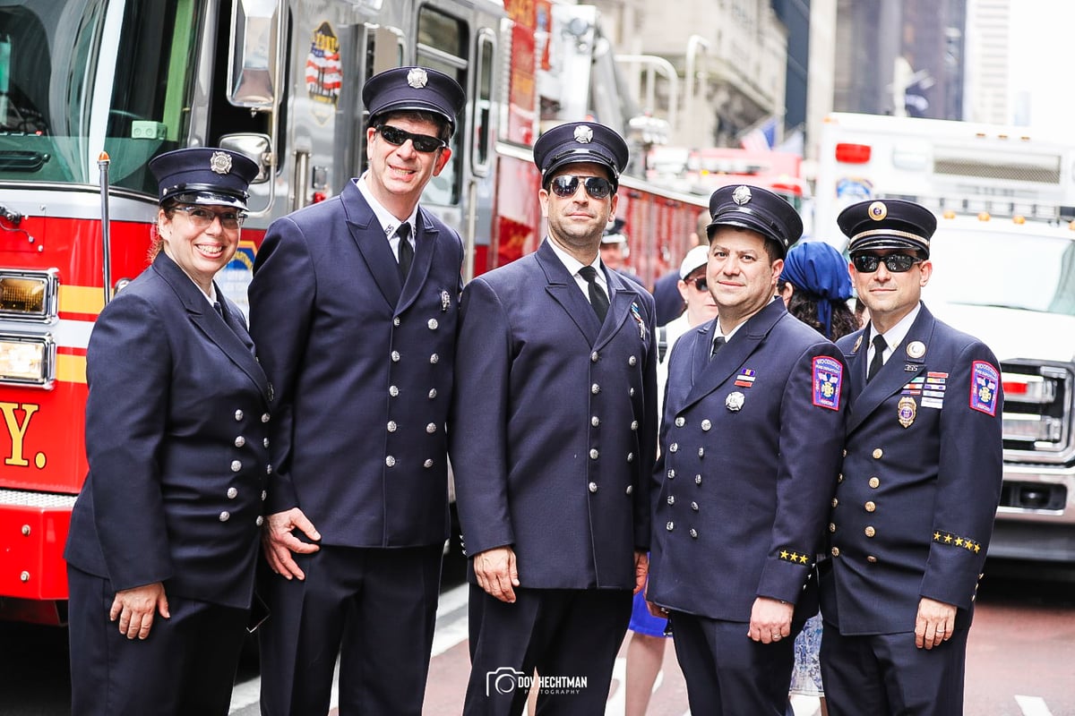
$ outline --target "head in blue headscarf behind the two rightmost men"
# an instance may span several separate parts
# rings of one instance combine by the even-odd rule
[[[829,340],[858,331],[859,321],[847,305],[852,295],[847,260],[829,244],[792,246],[776,288],[788,312]]]

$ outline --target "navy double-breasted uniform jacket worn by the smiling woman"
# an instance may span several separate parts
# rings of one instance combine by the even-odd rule
[[[89,474],[66,557],[116,590],[246,609],[271,389],[240,309],[227,323],[163,252],[101,311],[86,352]]]

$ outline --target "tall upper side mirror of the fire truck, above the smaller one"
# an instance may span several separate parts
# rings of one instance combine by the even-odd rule
[[[276,102],[281,46],[276,0],[239,0],[231,8],[228,100],[271,112]]]

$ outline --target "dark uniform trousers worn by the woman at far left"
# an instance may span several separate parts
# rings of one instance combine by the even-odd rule
[[[227,715],[248,610],[167,595],[171,618],[131,640],[109,580],[68,567],[68,586],[73,716]]]

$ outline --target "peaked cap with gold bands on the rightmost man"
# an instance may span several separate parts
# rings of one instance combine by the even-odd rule
[[[937,228],[933,211],[902,199],[851,204],[836,217],[847,236],[848,253],[872,249],[911,249],[930,257],[930,238]]]

